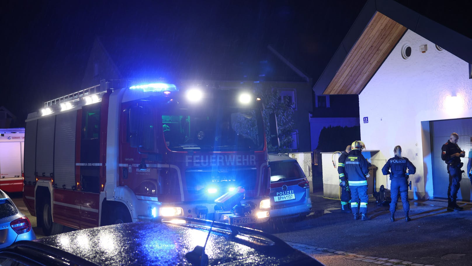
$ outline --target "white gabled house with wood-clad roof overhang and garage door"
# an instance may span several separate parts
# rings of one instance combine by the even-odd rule
[[[472,39],[396,1],[366,3],[313,90],[359,95],[362,141],[379,150],[371,152],[377,188],[390,185],[380,168],[401,145],[416,166],[410,194],[447,198],[441,145],[456,132],[466,154],[471,149],[471,47]],[[471,200],[468,178],[458,198]]]

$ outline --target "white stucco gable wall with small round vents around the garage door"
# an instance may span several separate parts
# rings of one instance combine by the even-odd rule
[[[405,44],[412,48],[406,60],[401,56]],[[428,45],[426,53],[420,52],[423,44]],[[415,198],[434,196],[425,121],[472,117],[468,71],[467,62],[438,51],[435,44],[408,30],[359,95],[361,140],[369,149],[380,150],[378,156],[384,159],[393,156],[396,145],[402,146],[403,155],[417,168],[411,178]]]

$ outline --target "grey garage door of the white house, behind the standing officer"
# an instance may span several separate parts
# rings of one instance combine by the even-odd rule
[[[461,158],[464,163],[462,168],[467,171],[468,154],[471,151],[472,118],[462,118],[453,120],[431,121],[431,152],[433,167],[433,191],[435,198],[447,199],[447,187],[449,186],[449,175],[447,174],[446,163],[441,160],[441,147],[447,142],[451,133],[459,135],[457,145],[465,151],[465,158]],[[461,188],[457,193],[457,200],[471,201],[471,182],[466,174],[462,175]]]

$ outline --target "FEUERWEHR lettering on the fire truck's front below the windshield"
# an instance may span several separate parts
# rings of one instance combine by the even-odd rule
[[[187,155],[185,165],[189,166],[231,166],[255,165],[255,155]]]

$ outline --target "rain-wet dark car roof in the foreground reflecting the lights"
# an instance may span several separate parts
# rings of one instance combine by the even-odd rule
[[[213,229],[205,248],[209,265],[316,265],[316,261],[269,239]],[[59,234],[35,241],[99,265],[188,265],[185,254],[203,246],[208,227],[135,222]],[[313,263],[315,262],[315,263]],[[321,265],[321,264],[319,264]]]

